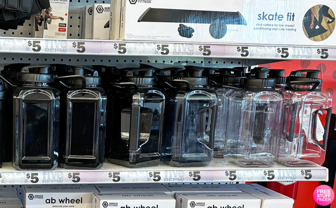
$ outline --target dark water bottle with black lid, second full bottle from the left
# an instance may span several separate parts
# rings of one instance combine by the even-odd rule
[[[72,70],[58,78],[67,86],[61,93],[60,165],[96,169],[104,163],[106,93],[97,71]]]

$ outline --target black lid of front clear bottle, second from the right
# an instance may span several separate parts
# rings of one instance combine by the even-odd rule
[[[241,85],[244,88],[275,88],[275,79],[267,78],[267,68],[254,68],[251,74],[253,78],[241,79]]]

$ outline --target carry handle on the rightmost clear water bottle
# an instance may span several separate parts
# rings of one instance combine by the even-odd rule
[[[331,109],[319,109],[316,110],[313,113],[313,121],[312,121],[312,138],[313,138],[313,142],[320,146],[323,150],[327,149],[327,139],[328,139],[328,130],[329,130],[329,124],[330,124],[330,118],[331,118]],[[317,119],[318,119],[318,112],[319,111],[326,111],[327,112],[327,116],[325,118],[325,125],[324,125],[324,134],[323,134],[323,143],[321,144],[316,137],[316,130],[317,130]]]

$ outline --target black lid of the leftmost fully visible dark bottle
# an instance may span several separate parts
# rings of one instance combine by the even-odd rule
[[[24,66],[18,74],[17,81],[53,83],[54,76],[49,74],[50,68],[51,66],[49,65]],[[32,70],[33,73],[30,73],[30,70]]]

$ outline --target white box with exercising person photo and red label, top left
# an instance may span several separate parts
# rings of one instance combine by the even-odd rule
[[[49,0],[50,7],[44,12],[43,38],[67,39],[68,0]]]

